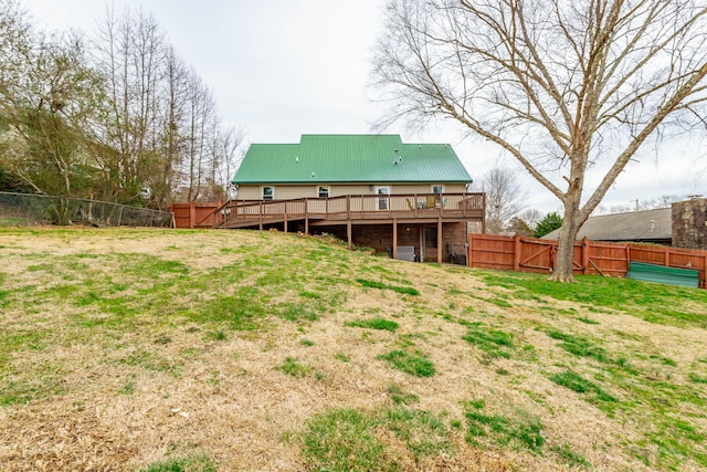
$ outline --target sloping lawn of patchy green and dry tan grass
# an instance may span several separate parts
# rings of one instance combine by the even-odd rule
[[[707,291],[0,228],[3,471],[707,469]]]

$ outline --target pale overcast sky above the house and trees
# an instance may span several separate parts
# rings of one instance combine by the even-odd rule
[[[93,35],[113,4],[152,14],[182,59],[210,86],[224,123],[249,143],[298,143],[302,134],[371,132],[371,49],[384,0],[23,0],[39,28]],[[517,169],[528,209],[558,211],[559,201],[488,143],[463,139],[451,122],[422,135],[403,125],[389,133],[409,143],[450,143],[476,181],[492,168]],[[635,204],[663,195],[707,195],[707,129],[636,155],[602,204]],[[590,175],[588,183],[598,176]]]

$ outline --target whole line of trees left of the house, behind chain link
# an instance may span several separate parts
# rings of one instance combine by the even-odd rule
[[[228,198],[243,133],[143,11],[93,36],[0,0],[0,172],[21,191],[166,208]]]

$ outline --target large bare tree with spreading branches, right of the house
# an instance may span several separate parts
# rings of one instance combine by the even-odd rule
[[[577,232],[636,150],[705,115],[704,0],[389,0],[386,11],[382,125],[452,117],[513,155],[564,207],[558,281],[573,281]],[[593,189],[590,166],[602,172]]]

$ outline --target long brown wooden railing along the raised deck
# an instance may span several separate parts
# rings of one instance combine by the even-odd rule
[[[214,228],[294,220],[483,219],[484,193],[358,195],[294,200],[231,200],[212,213]]]

